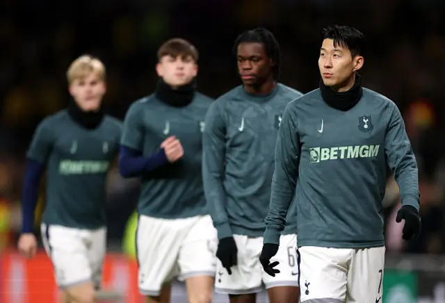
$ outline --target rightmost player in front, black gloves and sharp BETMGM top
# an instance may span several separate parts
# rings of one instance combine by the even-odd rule
[[[301,302],[381,302],[387,165],[401,190],[403,238],[421,225],[417,164],[401,113],[362,88],[357,74],[363,40],[350,26],[323,30],[320,88],[289,104],[277,140],[261,263],[273,274],[269,259],[295,199]]]

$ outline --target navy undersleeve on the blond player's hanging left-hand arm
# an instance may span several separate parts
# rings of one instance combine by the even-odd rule
[[[45,165],[28,159],[22,187],[22,233],[32,233],[34,229],[34,211],[37,205],[40,179]]]

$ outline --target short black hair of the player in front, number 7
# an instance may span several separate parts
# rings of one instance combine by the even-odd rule
[[[321,31],[322,40],[334,40],[334,47],[337,45],[349,49],[351,56],[363,56],[364,35],[357,28],[352,26],[328,26]]]

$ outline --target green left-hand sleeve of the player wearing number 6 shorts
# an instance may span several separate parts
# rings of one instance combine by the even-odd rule
[[[217,102],[211,104],[205,119],[202,136],[202,177],[207,206],[213,225],[218,231],[218,238],[232,236],[227,217],[226,193],[224,189],[225,161],[225,123],[221,117]]]

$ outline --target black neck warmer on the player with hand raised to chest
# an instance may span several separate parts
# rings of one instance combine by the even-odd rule
[[[154,94],[156,95],[156,98],[158,98],[159,100],[163,101],[164,103],[170,106],[181,107],[181,106],[187,106],[188,104],[191,103],[193,97],[195,97],[195,90],[196,90],[195,79],[193,79],[191,83],[182,85],[176,90],[173,89],[167,83],[165,83],[163,79],[159,79]]]

